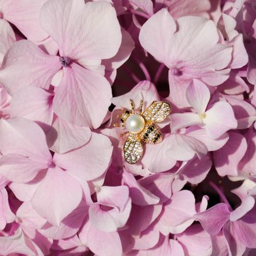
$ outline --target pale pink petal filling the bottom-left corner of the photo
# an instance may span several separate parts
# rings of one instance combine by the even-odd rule
[[[4,256],[10,254],[36,256],[36,253],[26,245],[25,236],[21,228],[15,232],[14,236],[1,236],[0,248],[1,254]]]

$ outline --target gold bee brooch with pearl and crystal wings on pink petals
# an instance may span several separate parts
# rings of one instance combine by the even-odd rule
[[[131,111],[122,108],[122,124],[114,124],[114,127],[126,127],[127,132],[120,136],[129,134],[124,143],[124,159],[129,164],[136,164],[143,154],[142,142],[156,144],[162,141],[162,134],[155,122],[162,122],[170,114],[170,104],[167,102],[153,102],[142,113],[143,100],[140,101],[140,112],[135,114],[134,102],[130,99]]]

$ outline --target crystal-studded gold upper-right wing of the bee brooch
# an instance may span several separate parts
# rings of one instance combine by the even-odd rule
[[[153,102],[143,112],[142,116],[149,122],[161,122],[170,114],[170,104],[167,102]]]

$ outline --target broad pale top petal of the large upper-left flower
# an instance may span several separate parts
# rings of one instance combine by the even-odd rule
[[[40,20],[58,42],[60,55],[73,60],[111,58],[121,44],[116,11],[108,2],[48,1],[41,9]]]

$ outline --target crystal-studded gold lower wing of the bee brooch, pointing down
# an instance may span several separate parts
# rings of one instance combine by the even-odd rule
[[[142,142],[137,134],[129,134],[124,143],[124,159],[129,164],[136,164],[143,154]]]

